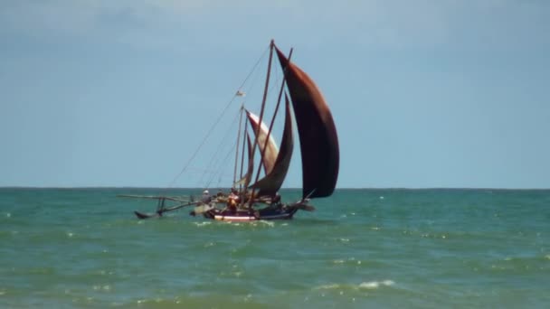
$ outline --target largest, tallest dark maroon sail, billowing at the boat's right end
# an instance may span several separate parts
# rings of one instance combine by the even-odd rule
[[[298,125],[304,198],[329,196],[338,178],[337,129],[315,82],[277,50]]]

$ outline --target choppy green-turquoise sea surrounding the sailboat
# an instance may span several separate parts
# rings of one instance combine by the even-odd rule
[[[201,190],[0,189],[0,308],[550,307],[550,190],[340,189],[244,223],[119,194]]]

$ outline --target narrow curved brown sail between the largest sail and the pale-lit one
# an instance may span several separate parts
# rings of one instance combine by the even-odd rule
[[[286,97],[285,97],[286,98]],[[280,141],[280,151],[273,169],[258,183],[251,187],[259,189],[258,196],[275,195],[287,176],[289,171],[292,150],[294,149],[294,138],[292,137],[292,114],[290,112],[289,98],[286,98],[285,128],[283,130],[282,140]]]

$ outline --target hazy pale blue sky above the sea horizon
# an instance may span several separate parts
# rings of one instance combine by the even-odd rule
[[[548,33],[543,0],[4,0],[0,186],[231,185],[236,134],[202,142],[258,107],[265,66],[232,98],[274,39],[331,108],[337,187],[550,188]]]

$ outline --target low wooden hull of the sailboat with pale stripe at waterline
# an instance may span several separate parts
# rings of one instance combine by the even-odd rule
[[[284,207],[281,209],[266,208],[257,211],[229,211],[213,209],[203,213],[204,218],[221,221],[255,221],[255,220],[289,220],[298,211],[295,207]]]

